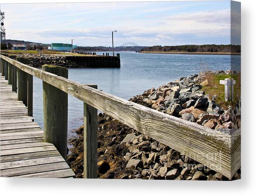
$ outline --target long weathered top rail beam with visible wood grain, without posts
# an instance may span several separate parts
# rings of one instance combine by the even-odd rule
[[[1,57],[24,72],[73,95],[137,131],[182,152],[224,176],[232,177],[232,168],[234,167],[232,164],[234,162],[231,161],[233,156],[231,147],[233,140],[231,140],[230,135],[141,106],[93,89],[88,85],[82,85],[52,73],[29,67],[5,56]],[[239,152],[239,149],[236,150]],[[233,159],[240,159],[238,155],[234,156],[236,157]]]

